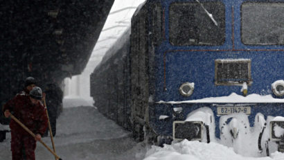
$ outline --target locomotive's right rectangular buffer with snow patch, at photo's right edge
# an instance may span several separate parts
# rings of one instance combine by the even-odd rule
[[[284,140],[284,121],[270,121],[270,138],[272,141]]]

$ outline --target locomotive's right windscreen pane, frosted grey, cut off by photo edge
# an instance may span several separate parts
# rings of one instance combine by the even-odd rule
[[[243,44],[284,44],[284,3],[248,2],[241,10]]]

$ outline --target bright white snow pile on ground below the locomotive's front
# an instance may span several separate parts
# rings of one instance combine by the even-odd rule
[[[199,141],[184,140],[172,145],[164,145],[163,148],[152,146],[145,155],[144,160],[281,160],[284,154],[272,153],[271,157],[243,157],[236,154],[232,148],[227,148],[219,143],[200,143]]]

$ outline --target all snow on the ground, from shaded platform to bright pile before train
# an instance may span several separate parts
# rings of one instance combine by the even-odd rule
[[[80,102],[79,102],[80,101]],[[98,112],[96,107],[84,106],[85,100],[65,98],[64,109],[57,119],[57,133],[54,137],[55,149],[62,159],[68,160],[283,160],[284,154],[274,152],[271,157],[243,157],[219,143],[181,141],[164,145],[163,148],[136,143],[131,133],[123,130]],[[43,141],[51,146],[50,137]],[[12,159],[10,133],[0,143],[0,159]],[[36,159],[53,160],[53,154],[37,143]]]

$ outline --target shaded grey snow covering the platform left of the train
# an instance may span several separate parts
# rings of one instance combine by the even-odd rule
[[[71,102],[76,100],[66,100],[64,105]],[[42,141],[52,148],[49,136]],[[57,155],[68,160],[141,160],[146,152],[144,143],[136,143],[130,132],[105,118],[95,107],[64,106],[57,119],[54,141]],[[12,159],[10,133],[0,143],[0,150],[1,160]],[[41,143],[37,143],[35,155],[40,160],[55,159]]]

